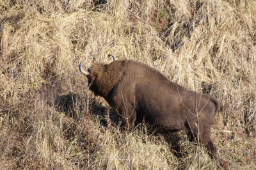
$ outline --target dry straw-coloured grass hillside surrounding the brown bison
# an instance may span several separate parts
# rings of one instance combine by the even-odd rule
[[[217,97],[221,157],[256,169],[254,0],[0,0],[0,43],[0,169],[221,169],[184,132],[120,132],[78,69],[109,53]]]

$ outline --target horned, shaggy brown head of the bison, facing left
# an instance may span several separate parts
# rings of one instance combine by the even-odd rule
[[[114,61],[116,60],[115,56],[111,54],[109,54],[109,56],[112,56]],[[79,65],[80,72],[87,77],[89,89],[93,91],[95,95],[103,95],[100,88],[102,88],[102,81],[106,81],[102,80],[102,75],[106,72],[106,68],[108,68],[108,64],[104,62],[94,63],[87,71],[83,70],[83,61]]]

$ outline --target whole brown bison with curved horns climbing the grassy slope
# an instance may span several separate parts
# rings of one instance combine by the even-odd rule
[[[211,158],[220,160],[211,140],[211,125],[219,109],[217,98],[179,86],[138,61],[113,59],[110,64],[94,63],[88,71],[81,62],[79,69],[87,76],[89,89],[122,116],[122,125],[129,132],[136,119],[145,118],[164,132],[186,130],[192,139],[200,133]]]

